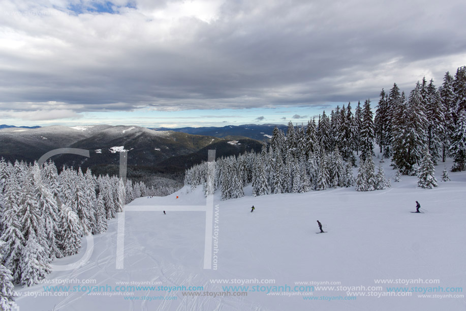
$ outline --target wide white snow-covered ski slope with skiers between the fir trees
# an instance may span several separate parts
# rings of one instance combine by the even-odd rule
[[[394,175],[388,163],[384,165],[387,176]],[[440,182],[443,164],[436,169],[439,187],[431,190],[416,187],[416,177],[402,176],[400,183],[392,182],[392,188],[371,192],[356,192],[353,187],[253,197],[248,187],[245,197],[228,201],[220,201],[215,194],[216,270],[203,269],[204,212],[171,211],[169,207],[164,208],[167,215],[131,211],[147,205],[205,205],[202,189],[183,188],[166,197],[140,198],[126,207],[123,269],[116,269],[118,220],[113,219],[107,233],[94,237],[87,263],[70,271],[55,269],[47,278],[55,284],[18,287],[22,296],[17,302],[21,311],[465,310],[466,299],[455,295],[464,295],[460,290],[466,289],[466,172],[450,173],[452,181],[445,183]],[[416,210],[415,201],[427,210],[424,214],[410,213]],[[252,205],[256,207],[253,213]],[[327,234],[315,234],[319,232],[316,220],[327,225]],[[83,256],[84,248],[85,242],[77,258]],[[223,279],[230,284],[212,281]],[[244,282],[247,289],[223,288],[241,286],[232,284],[232,279],[264,283]],[[269,279],[275,283],[265,281]],[[377,284],[375,279],[393,284]],[[44,295],[43,286],[56,286],[60,281],[71,282],[64,284],[70,286],[66,297],[58,296],[65,289],[52,290],[52,296],[24,296]],[[121,286],[120,281],[150,281],[155,287],[167,288],[140,288],[133,296],[109,292]],[[402,284],[406,281],[416,283]],[[313,290],[303,289],[312,295],[302,296],[302,284],[296,282],[322,282],[327,288],[314,284]],[[105,290],[74,292],[77,286]],[[190,291],[190,286],[202,289]],[[274,289],[271,286],[284,290],[288,286],[289,290],[267,295]],[[168,287],[181,288],[169,291]],[[391,287],[419,292],[389,294]],[[183,296],[195,292],[246,292],[247,296]],[[133,300],[125,300],[128,297]]]

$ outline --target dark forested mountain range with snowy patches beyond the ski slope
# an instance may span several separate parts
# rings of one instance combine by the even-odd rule
[[[182,181],[186,168],[207,160],[207,150],[216,156],[230,156],[255,150],[268,140],[273,126],[220,128],[224,135],[194,135],[181,130],[153,130],[138,126],[46,126],[37,128],[8,127],[0,130],[0,157],[8,161],[33,162],[50,150],[80,148],[90,157],[62,154],[52,157],[58,168],[63,165],[90,167],[94,174],[117,175],[118,150],[128,150],[128,177],[149,182],[151,176]],[[214,128],[210,128],[214,131]],[[201,131],[202,132],[202,131]],[[243,135],[239,135],[242,133]],[[245,134],[261,138],[251,139]]]

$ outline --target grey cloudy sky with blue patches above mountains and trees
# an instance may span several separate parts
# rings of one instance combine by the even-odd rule
[[[466,65],[466,2],[3,0],[0,123],[301,123]]]

